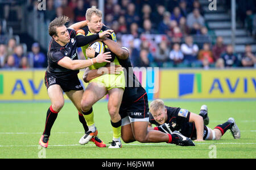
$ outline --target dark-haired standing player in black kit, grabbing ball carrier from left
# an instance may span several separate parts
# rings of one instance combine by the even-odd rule
[[[42,147],[48,147],[50,131],[57,118],[57,113],[64,105],[63,92],[67,94],[69,99],[76,106],[79,113],[81,110],[81,99],[84,90],[80,84],[77,74],[79,69],[89,67],[94,63],[110,62],[109,52],[101,53],[94,59],[79,60],[77,56],[77,47],[81,47],[99,38],[106,38],[111,35],[112,30],[106,30],[100,34],[91,36],[76,36],[76,31],[72,28],[65,27],[68,22],[67,16],[60,16],[49,23],[48,32],[52,37],[49,43],[47,53],[48,67],[45,74],[45,85],[48,96],[51,99],[51,106],[47,110],[46,124],[43,135],[39,140]],[[80,120],[86,130],[86,122]],[[97,141],[96,141],[97,142]],[[95,142],[94,142],[95,143]]]

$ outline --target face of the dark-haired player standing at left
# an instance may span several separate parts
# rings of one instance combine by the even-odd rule
[[[55,36],[55,41],[61,45],[65,45],[70,42],[70,36],[68,34],[68,29],[65,26],[56,28],[57,36]]]

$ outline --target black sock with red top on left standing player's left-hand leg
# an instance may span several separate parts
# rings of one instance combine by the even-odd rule
[[[46,127],[44,128],[43,135],[48,135],[48,136],[50,135],[52,125],[55,122],[57,115],[58,115],[58,112],[54,111],[52,109],[52,106],[50,106],[46,114]]]

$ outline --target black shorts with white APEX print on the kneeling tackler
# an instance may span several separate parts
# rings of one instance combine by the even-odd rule
[[[148,122],[149,115],[148,115],[148,100],[147,100],[147,93],[143,94],[141,97],[139,97],[136,101],[132,103],[121,103],[119,114],[121,115],[121,118],[126,118],[130,122],[137,122],[137,121],[143,121]],[[125,124],[127,125],[127,122],[124,122],[125,120],[122,120],[122,126]]]

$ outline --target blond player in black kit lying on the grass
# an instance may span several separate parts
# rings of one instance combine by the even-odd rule
[[[168,107],[161,99],[150,103],[150,127],[155,130],[172,133],[179,131],[184,136],[196,141],[219,140],[230,129],[234,139],[240,138],[240,130],[234,121],[229,118],[227,122],[217,125],[212,130],[204,125],[204,118],[208,117],[208,108],[201,106],[200,114],[197,115],[179,107]],[[209,120],[208,120],[209,123]],[[157,127],[152,127],[152,124]]]

